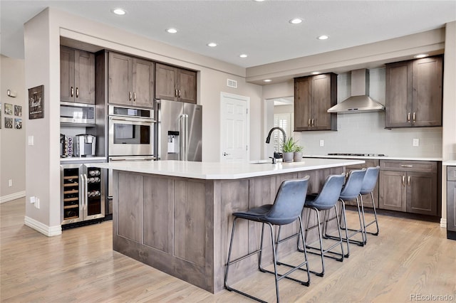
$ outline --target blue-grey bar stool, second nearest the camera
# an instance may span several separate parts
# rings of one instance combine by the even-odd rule
[[[320,220],[320,211],[327,211],[330,210],[331,208],[334,208],[336,211],[336,216],[337,216],[337,208],[336,208],[336,203],[338,201],[338,198],[341,194],[341,189],[343,186],[343,181],[345,179],[344,174],[341,175],[330,175],[326,178],[325,184],[323,184],[323,187],[321,188],[320,193],[318,194],[311,194],[308,195],[306,198],[306,203],[304,204],[304,208],[309,208],[309,215],[307,217],[307,224],[306,224],[306,237],[304,239],[303,243],[307,243],[307,235],[309,235],[309,230],[318,228],[318,239],[320,243],[320,247],[316,248],[310,245],[303,245],[304,250],[305,248],[309,248],[309,253],[315,254],[315,255],[320,255],[321,256],[321,272],[315,272],[311,270],[310,272],[314,273],[315,275],[319,277],[323,277],[325,273],[325,262],[324,262],[324,257],[332,257],[338,261],[343,261],[343,241],[342,241],[342,235],[341,235],[341,228],[340,225],[337,225],[338,228],[338,242],[334,243],[333,245],[329,246],[326,249],[323,249],[323,240],[322,240],[322,226],[321,226],[321,220]],[[311,226],[309,228],[309,221],[310,221],[310,216],[311,216],[311,211],[314,210],[316,212],[316,219],[317,219],[317,224],[314,226]],[[299,244],[299,243],[298,243]],[[338,252],[333,252],[333,248],[336,248],[336,246],[341,245],[341,253]],[[312,250],[318,250],[318,252],[314,252]],[[327,254],[332,254],[332,255],[339,255],[340,257],[333,257],[332,255],[327,255]]]

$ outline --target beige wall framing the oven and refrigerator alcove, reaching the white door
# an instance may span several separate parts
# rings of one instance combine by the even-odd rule
[[[53,8],[46,9],[25,26],[26,87],[45,87],[44,118],[30,120],[26,132],[26,136],[35,139],[35,145],[26,146],[26,197],[27,200],[31,196],[40,198],[39,209],[27,203],[26,224],[41,233],[61,233],[58,153],[61,37],[199,70],[198,102],[203,106],[203,161],[219,161],[220,92],[250,97],[250,129],[252,133],[261,131],[261,86],[245,82],[244,68]],[[237,80],[238,88],[227,87],[227,78]],[[217,144],[214,144],[214,140]],[[251,136],[251,154],[259,154],[258,142],[258,136]]]

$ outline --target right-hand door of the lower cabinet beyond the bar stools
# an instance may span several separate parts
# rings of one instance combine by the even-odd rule
[[[437,174],[407,173],[407,212],[437,216]]]

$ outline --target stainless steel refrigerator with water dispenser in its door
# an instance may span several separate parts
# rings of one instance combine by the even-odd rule
[[[201,161],[202,106],[157,100],[159,160]]]

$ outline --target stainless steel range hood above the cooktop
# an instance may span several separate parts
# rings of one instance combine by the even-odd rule
[[[379,112],[385,106],[369,95],[369,71],[366,68],[351,71],[351,97],[331,107],[328,112],[353,114],[356,112]]]

